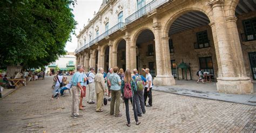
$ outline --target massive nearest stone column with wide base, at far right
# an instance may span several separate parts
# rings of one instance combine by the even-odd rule
[[[246,94],[253,92],[251,79],[246,77],[244,61],[237,26],[234,19],[225,17],[223,1],[215,0],[208,3],[212,7],[215,34],[218,43],[218,65],[221,68],[217,78],[219,92]],[[228,6],[228,5],[226,5]],[[234,35],[234,36],[233,36]],[[236,39],[235,39],[236,38]],[[218,61],[218,60],[217,60]]]

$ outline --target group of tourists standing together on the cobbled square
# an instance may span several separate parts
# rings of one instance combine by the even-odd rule
[[[138,116],[146,113],[145,106],[152,106],[152,76],[149,69],[142,70],[146,73],[146,78],[139,75],[137,69],[134,69],[132,73],[129,69],[124,72],[123,69],[118,67],[110,68],[107,74],[103,68],[99,68],[96,75],[94,73],[95,69],[90,68],[90,71],[85,75],[84,67],[78,65],[77,72],[74,73],[70,82],[70,86],[72,86],[71,116],[74,118],[83,116],[79,114],[79,110],[84,110],[85,106],[82,105],[82,100],[86,95],[87,87],[89,89],[89,94],[87,95],[88,104],[95,104],[94,95],[96,93],[96,112],[103,112],[103,101],[104,105],[106,104],[105,93],[109,97],[108,100],[111,101],[110,115],[122,116],[119,110],[120,99],[122,98],[125,103],[126,125],[128,127],[131,126],[129,101],[131,101],[133,107],[136,124],[139,125]],[[57,79],[62,80],[60,78],[57,76]],[[146,105],[147,97],[149,97],[149,105]]]

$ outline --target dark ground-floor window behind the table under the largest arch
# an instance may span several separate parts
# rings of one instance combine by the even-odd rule
[[[201,57],[199,58],[200,68],[203,69],[204,72],[210,72],[210,74],[214,74],[213,71],[213,63],[212,57]]]

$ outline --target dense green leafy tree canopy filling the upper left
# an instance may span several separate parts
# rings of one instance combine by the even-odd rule
[[[38,68],[55,61],[64,50],[76,21],[76,0],[0,1],[0,68],[21,64]]]

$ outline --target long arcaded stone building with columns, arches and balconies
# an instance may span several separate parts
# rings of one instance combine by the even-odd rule
[[[178,73],[197,79],[201,68],[219,92],[252,93],[255,9],[254,0],[104,0],[77,35],[76,64],[150,68],[154,85],[175,85]]]

